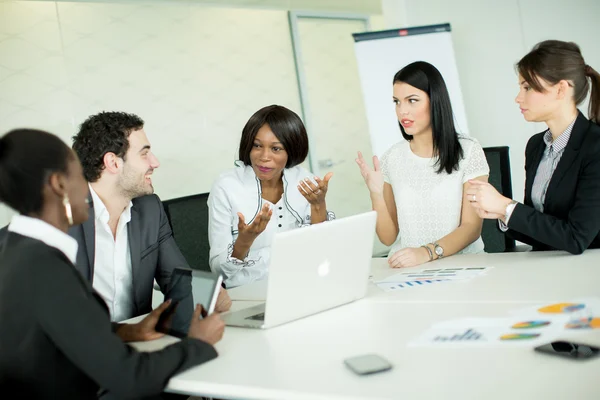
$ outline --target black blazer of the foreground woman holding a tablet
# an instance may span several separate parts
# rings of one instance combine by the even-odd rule
[[[183,339],[138,353],[112,332],[108,309],[59,250],[9,232],[0,251],[0,393],[23,399],[158,394],[169,378],[217,356]]]

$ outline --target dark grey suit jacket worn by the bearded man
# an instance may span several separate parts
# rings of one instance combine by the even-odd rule
[[[189,323],[193,312],[191,277],[171,282],[171,273],[175,267],[189,268],[189,265],[175,243],[167,214],[158,196],[138,197],[132,203],[127,233],[133,276],[134,316],[152,310],[152,290],[156,278],[165,299],[182,301],[177,309],[177,314],[182,319],[177,318],[174,325],[179,330],[186,329],[181,323]],[[69,229],[69,235],[79,244],[77,270],[93,284],[96,254],[96,218],[93,207],[90,208],[88,220]]]

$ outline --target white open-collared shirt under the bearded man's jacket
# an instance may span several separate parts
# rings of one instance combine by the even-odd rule
[[[110,215],[98,194],[90,186],[94,201],[96,251],[94,258],[94,289],[104,299],[112,321],[133,317],[133,274],[127,224],[131,220],[132,203],[123,210],[113,236]]]

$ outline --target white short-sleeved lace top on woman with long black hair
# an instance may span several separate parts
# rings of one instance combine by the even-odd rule
[[[435,158],[422,158],[409,142],[396,143],[381,157],[384,180],[392,185],[400,232],[390,255],[405,247],[433,243],[460,225],[463,184],[489,175],[490,168],[476,139],[459,135],[464,158],[458,171],[436,173]],[[479,237],[459,253],[479,253]]]

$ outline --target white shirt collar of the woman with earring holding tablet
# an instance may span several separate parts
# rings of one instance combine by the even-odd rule
[[[77,240],[49,223],[38,218],[15,215],[10,221],[8,231],[37,239],[48,246],[60,250],[75,265],[78,247]]]

